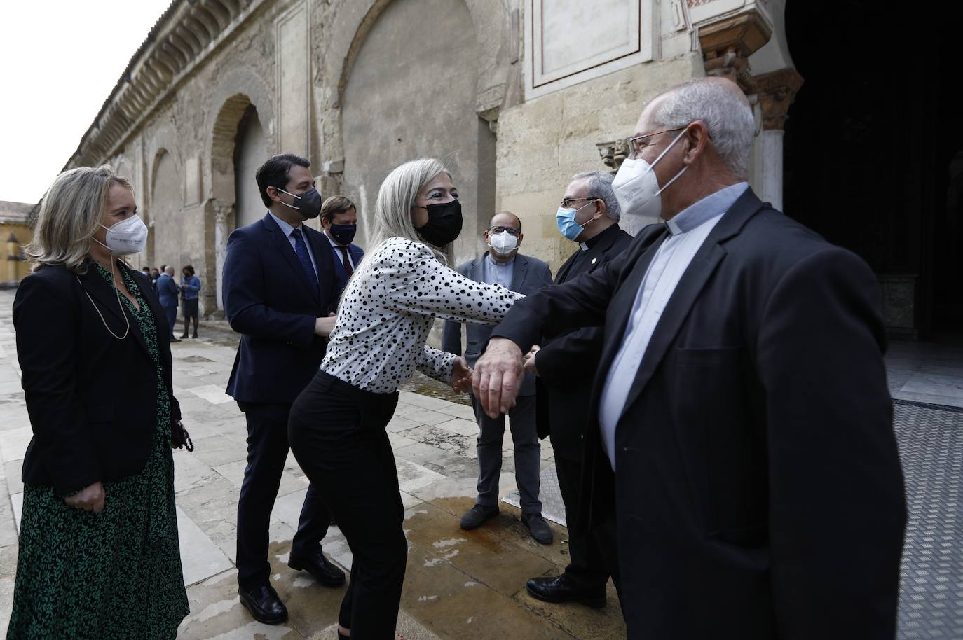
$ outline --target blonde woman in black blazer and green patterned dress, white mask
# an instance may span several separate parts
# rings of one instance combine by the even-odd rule
[[[65,171],[43,198],[13,302],[34,437],[8,638],[173,638],[188,614],[169,325],[117,259],[145,231],[109,166]]]

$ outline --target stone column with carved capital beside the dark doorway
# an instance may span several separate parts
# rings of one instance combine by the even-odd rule
[[[802,76],[794,68],[772,71],[754,79],[756,96],[763,110],[763,131],[760,134],[762,179],[760,196],[782,211],[783,195],[783,136],[786,114],[796,92],[802,87]]]

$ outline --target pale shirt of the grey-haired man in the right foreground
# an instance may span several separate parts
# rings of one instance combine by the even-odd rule
[[[615,470],[615,426],[625,410],[625,401],[665,306],[672,299],[679,280],[689,269],[699,247],[706,242],[722,215],[748,188],[746,182],[726,187],[702,198],[665,222],[669,236],[659,246],[645,271],[621,346],[602,387],[599,428],[612,471]]]

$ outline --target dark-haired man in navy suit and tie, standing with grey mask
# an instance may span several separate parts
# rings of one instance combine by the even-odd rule
[[[238,593],[255,620],[273,625],[287,609],[271,586],[268,526],[288,455],[288,412],[325,357],[334,327],[336,281],[325,237],[302,222],[321,213],[310,163],[273,156],[256,174],[268,207],[227,241],[223,303],[241,334],[227,393],[247,420],[247,469],[238,499]],[[321,550],[330,516],[308,486],[288,565],[337,586],[344,572]]]

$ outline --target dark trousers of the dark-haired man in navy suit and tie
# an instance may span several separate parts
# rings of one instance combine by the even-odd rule
[[[238,402],[247,419],[247,468],[238,499],[238,584],[250,589],[271,576],[268,533],[277,488],[288,458],[288,404]],[[331,516],[317,488],[308,485],[301,506],[292,557],[321,550]]]

